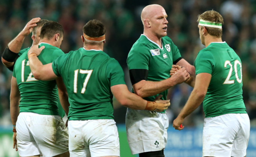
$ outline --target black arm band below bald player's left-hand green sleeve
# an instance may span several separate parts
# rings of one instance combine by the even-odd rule
[[[131,69],[129,70],[130,79],[132,85],[138,83],[141,80],[147,80],[148,78],[148,70],[147,69]]]

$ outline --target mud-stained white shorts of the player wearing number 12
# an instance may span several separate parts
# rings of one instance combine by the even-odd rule
[[[69,151],[68,130],[60,116],[19,114],[16,122],[17,147],[21,157],[52,157]]]

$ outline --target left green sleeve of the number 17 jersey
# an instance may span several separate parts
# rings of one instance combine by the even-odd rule
[[[67,61],[68,54],[60,55],[52,62],[52,70],[56,76],[61,76],[64,63]]]

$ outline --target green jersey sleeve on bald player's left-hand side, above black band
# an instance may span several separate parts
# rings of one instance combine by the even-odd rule
[[[150,61],[150,53],[146,51],[145,46],[136,45],[130,50],[127,58],[128,69],[146,69]]]

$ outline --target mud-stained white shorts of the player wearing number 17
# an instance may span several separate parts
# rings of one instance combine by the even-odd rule
[[[113,119],[69,120],[70,157],[120,156]]]

